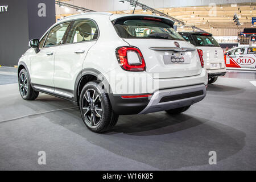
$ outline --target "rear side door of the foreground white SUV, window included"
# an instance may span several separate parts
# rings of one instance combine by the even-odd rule
[[[97,24],[93,20],[75,20],[65,43],[57,49],[53,82],[55,94],[73,98],[77,75],[82,71],[86,53],[98,38]]]

